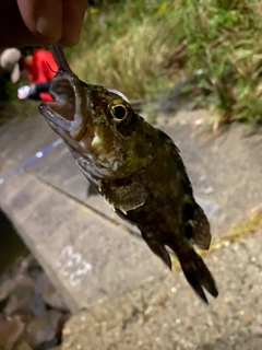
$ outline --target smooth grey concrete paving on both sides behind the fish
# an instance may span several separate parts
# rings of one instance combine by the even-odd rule
[[[246,128],[235,125],[210,139],[206,118],[203,110],[183,112],[175,118],[159,116],[157,122],[180,148],[194,192],[218,237],[262,202],[262,137],[243,137]],[[0,128],[0,207],[71,310],[165,277],[162,261],[129,234],[130,226],[100,197],[86,197],[87,182],[63,144],[28,162],[56,139],[40,116]],[[10,171],[14,174],[7,177]],[[184,295],[194,301],[191,293],[184,288]],[[183,298],[182,293],[179,303]]]

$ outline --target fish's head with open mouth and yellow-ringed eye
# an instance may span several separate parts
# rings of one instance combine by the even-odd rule
[[[39,112],[64,140],[83,172],[122,178],[152,160],[148,125],[119,91],[81,81],[60,70],[50,88],[53,102]]]

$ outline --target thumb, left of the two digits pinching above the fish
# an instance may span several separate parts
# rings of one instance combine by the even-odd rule
[[[62,37],[61,0],[17,0],[25,26],[34,36],[43,36],[49,43]]]

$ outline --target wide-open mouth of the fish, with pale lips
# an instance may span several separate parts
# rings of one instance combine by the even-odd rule
[[[71,72],[60,71],[50,86],[53,102],[43,102],[39,112],[60,136],[64,131],[75,141],[83,137],[91,120],[91,101],[85,84]]]

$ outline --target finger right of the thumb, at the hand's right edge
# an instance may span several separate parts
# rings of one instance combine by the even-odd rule
[[[62,38],[63,46],[78,44],[86,10],[86,0],[62,0]]]

